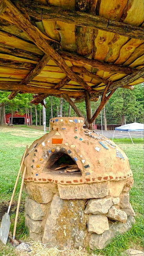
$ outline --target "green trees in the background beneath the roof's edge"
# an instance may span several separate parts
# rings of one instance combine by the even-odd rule
[[[0,91],[0,125],[6,123],[5,114],[11,113],[11,123],[13,123],[13,114],[15,112],[23,115],[26,113],[26,121],[30,120],[27,125],[43,124],[43,106],[38,104],[37,106],[30,104],[33,95],[30,93],[17,94],[13,100],[9,100],[7,96],[9,92]],[[100,100],[97,102],[91,102],[92,114],[98,108]],[[86,117],[86,105],[85,102],[77,103],[77,107],[81,113]],[[102,119],[107,124],[120,124],[126,123],[143,123],[144,113],[144,84],[135,85],[134,90],[127,90],[124,88],[118,88],[106,103],[105,108],[102,110]],[[71,106],[63,99],[49,96],[46,98],[46,123],[49,126],[49,119],[51,117],[57,117],[61,115],[63,117],[76,116],[75,111]],[[100,124],[100,114],[95,120],[95,124]]]

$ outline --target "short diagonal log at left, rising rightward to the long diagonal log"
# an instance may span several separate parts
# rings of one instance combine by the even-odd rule
[[[42,57],[42,59],[38,62],[36,67],[33,70],[31,70],[31,72],[29,72],[29,74],[20,82],[20,84],[28,84],[29,82],[31,82],[34,77],[40,74],[40,72],[46,66],[49,60],[50,57],[45,54],[44,57]],[[13,98],[15,98],[18,92],[19,91],[12,91],[11,94],[9,94],[8,99],[12,100]]]

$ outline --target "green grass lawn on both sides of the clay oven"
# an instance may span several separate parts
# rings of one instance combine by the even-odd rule
[[[33,129],[27,126],[4,126],[0,127],[0,220],[7,211],[7,205],[10,201],[16,176],[18,174],[20,160],[26,148],[26,145],[44,135],[42,128]],[[115,139],[122,150],[129,158],[129,163],[134,177],[134,185],[130,190],[130,202],[136,213],[136,223],[129,232],[118,236],[113,243],[106,249],[95,250],[95,255],[101,256],[119,256],[120,252],[132,248],[142,250],[143,248],[143,141],[133,139],[134,145],[130,139]],[[13,207],[11,208],[11,231],[13,232],[16,201],[20,190],[20,181],[16,188]],[[16,229],[16,237],[22,238],[27,235],[24,226],[24,201],[26,194],[22,192],[22,203],[20,205],[20,214]],[[3,212],[4,211],[4,212]],[[0,256],[16,255],[10,245],[4,246],[0,242]],[[91,251],[87,248],[87,253]],[[26,254],[29,255],[29,254]]]

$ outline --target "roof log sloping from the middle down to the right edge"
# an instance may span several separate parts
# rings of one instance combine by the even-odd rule
[[[58,53],[65,60],[74,61],[78,64],[87,65],[87,66],[97,68],[97,69],[100,69],[100,70],[122,73],[122,74],[128,74],[128,75],[131,74],[131,73],[135,73],[134,68],[129,68],[129,67],[125,67],[125,66],[104,63],[104,62],[101,62],[99,60],[87,59],[87,58],[84,58],[82,56],[78,56],[76,54],[69,53],[67,51],[62,51],[62,50],[58,50]]]

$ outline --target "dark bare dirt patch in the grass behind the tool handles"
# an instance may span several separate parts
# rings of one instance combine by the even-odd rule
[[[11,205],[11,209],[10,209],[10,214],[13,214],[16,212],[16,207],[17,207],[18,202],[14,201]],[[5,212],[7,212],[7,209],[9,207],[9,202],[4,201],[2,203],[0,203],[0,221],[2,219],[2,216],[5,214]],[[20,204],[20,212],[24,211],[24,203]]]

